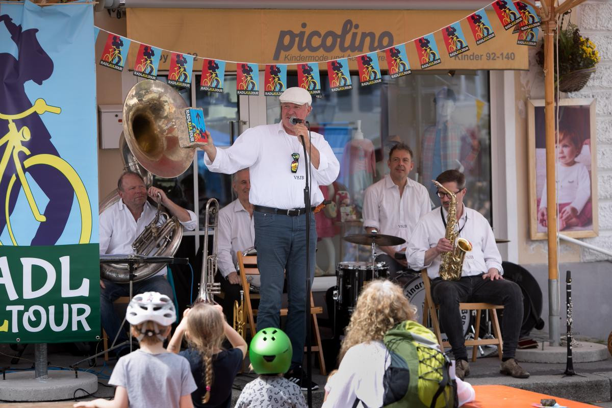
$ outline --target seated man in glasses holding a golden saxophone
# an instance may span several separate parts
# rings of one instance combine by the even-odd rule
[[[504,305],[503,355],[500,373],[527,378],[529,373],[515,359],[523,322],[520,287],[504,280],[501,255],[487,219],[465,207],[465,175],[442,172],[435,180],[441,206],[424,215],[412,232],[406,259],[412,269],[427,268],[431,296],[439,305],[439,320],[455,357],[457,377],[469,374],[460,302]]]

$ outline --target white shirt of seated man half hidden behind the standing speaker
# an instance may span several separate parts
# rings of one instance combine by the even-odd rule
[[[239,199],[219,211],[217,267],[224,278],[236,272],[237,251],[255,245],[255,224]]]

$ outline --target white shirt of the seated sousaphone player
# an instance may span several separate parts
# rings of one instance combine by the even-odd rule
[[[198,225],[198,220],[193,211],[187,210],[187,212],[190,220],[181,224],[183,228],[192,231]],[[144,203],[143,213],[138,220],[134,220],[132,212],[122,199],[108,207],[99,217],[100,254],[133,254],[132,242],[154,220],[155,213],[157,207],[152,206],[148,200]],[[157,275],[164,274],[165,269],[157,273]]]

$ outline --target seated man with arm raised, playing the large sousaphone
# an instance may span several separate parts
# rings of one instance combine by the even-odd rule
[[[155,219],[157,209],[149,201],[147,195],[155,202],[168,209],[170,215],[176,217],[184,229],[192,231],[198,225],[195,213],[174,203],[163,190],[149,187],[147,190],[140,174],[125,171],[117,182],[119,201],[100,214],[100,254],[133,254],[132,242]],[[121,328],[122,319],[114,312],[113,302],[118,297],[129,296],[129,284],[116,283],[100,279],[100,318],[102,327],[108,335],[109,343],[116,337]],[[159,292],[174,299],[172,287],[166,279],[166,269],[163,268],[154,276],[133,283],[132,296],[144,292]],[[119,332],[116,344],[127,340],[122,330]],[[130,351],[129,346],[119,347],[117,357]]]

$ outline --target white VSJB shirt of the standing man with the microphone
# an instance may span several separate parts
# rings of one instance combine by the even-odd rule
[[[313,146],[319,150],[319,168],[312,169],[310,203],[323,202],[319,185],[329,185],[338,177],[340,163],[323,135],[312,132]],[[299,154],[297,172],[291,172],[292,154]],[[247,129],[227,149],[217,148],[215,160],[204,155],[210,171],[233,174],[249,168],[251,191],[248,201],[255,206],[294,209],[304,207],[304,147],[297,136],[288,135],[282,122]]]

